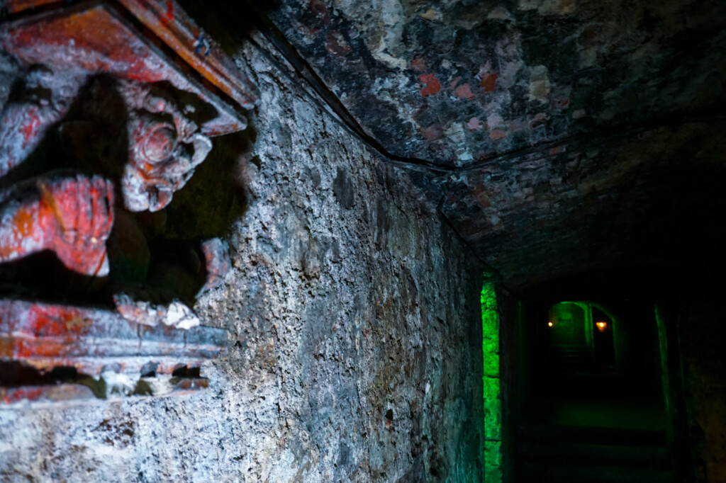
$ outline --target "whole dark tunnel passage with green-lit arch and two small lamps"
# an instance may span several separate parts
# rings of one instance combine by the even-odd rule
[[[519,295],[510,313],[514,482],[680,481],[667,335],[646,283],[585,273]]]

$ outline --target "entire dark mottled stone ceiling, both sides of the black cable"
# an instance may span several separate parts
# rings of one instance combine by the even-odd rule
[[[287,0],[264,16],[354,130],[431,169],[441,213],[511,286],[701,263],[726,241],[726,2]]]

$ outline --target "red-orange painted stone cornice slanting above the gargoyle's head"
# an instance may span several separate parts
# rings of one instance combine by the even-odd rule
[[[195,51],[199,29],[173,1],[123,1],[129,9],[185,64],[173,65],[149,49],[144,38],[136,36],[115,15],[102,6],[80,9],[73,15],[48,15],[23,25],[13,24],[0,32],[0,48],[21,62],[42,64],[53,70],[74,67],[90,73],[113,73],[132,80],[155,83],[170,81],[209,102],[206,91],[192,86],[183,71],[191,67],[205,80],[250,108],[256,100],[254,87],[237,70],[231,59],[210,44],[205,54]],[[169,7],[171,6],[171,9]],[[171,15],[171,16],[170,16]],[[73,39],[70,42],[69,39]],[[180,72],[181,67],[181,72]],[[224,103],[214,101],[219,117],[205,123],[206,134],[239,131],[243,125]]]

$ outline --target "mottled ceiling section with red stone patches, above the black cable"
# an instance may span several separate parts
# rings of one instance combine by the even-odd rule
[[[391,154],[468,165],[723,98],[725,6],[305,0],[269,15]]]

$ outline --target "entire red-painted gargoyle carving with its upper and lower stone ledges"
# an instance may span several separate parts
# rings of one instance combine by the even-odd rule
[[[0,263],[50,250],[70,270],[99,277],[109,271],[106,241],[115,210],[121,209],[116,195],[123,194],[126,210],[166,206],[211,150],[208,136],[245,128],[239,110],[253,106],[256,90],[172,0],[89,1],[69,8],[65,3],[4,2],[12,20],[0,25],[0,48],[27,67],[24,87],[47,92],[49,98],[4,107],[0,176],[23,162],[50,126],[61,123],[61,137],[72,137],[73,123],[81,122],[66,123],[68,106],[76,102],[80,86],[105,78],[98,74],[113,76],[128,108],[129,158],[121,186],[107,175],[57,172],[2,191]],[[162,43],[171,55],[159,48]],[[196,100],[177,103],[165,95],[167,88]],[[200,125],[185,115],[194,111],[195,102],[213,107]],[[229,270],[229,255],[219,240],[208,241],[203,250],[208,286],[214,286]],[[180,359],[198,366],[213,358],[225,341],[222,329],[144,327],[112,310],[0,300],[0,361],[23,363],[41,375],[62,366],[96,376],[113,366],[116,373],[135,371],[140,377],[150,359],[159,371],[171,373]],[[46,384],[45,376],[34,383],[25,380],[19,388],[3,376],[0,400],[6,403],[88,395],[88,388],[77,384],[38,386]],[[198,389],[207,381],[182,377],[176,384]]]

